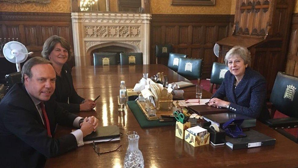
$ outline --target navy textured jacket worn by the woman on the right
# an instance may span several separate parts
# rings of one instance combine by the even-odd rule
[[[235,76],[227,71],[223,83],[213,97],[224,99],[227,97],[231,103],[229,110],[244,114],[261,121],[269,118],[265,105],[266,80],[251,68],[246,68],[242,80],[234,89]]]

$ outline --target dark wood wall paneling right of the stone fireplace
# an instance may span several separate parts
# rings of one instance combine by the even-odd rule
[[[150,28],[150,63],[155,63],[155,45],[172,44],[173,52],[203,59],[203,76],[210,78],[216,41],[231,34],[234,15],[152,14]],[[167,65],[168,59],[158,63]]]

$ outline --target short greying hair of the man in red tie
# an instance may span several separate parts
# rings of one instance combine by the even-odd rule
[[[25,62],[24,66],[22,68],[22,83],[23,84],[25,82],[24,74],[28,75],[28,77],[31,78],[32,77],[31,68],[34,65],[38,65],[38,64],[51,64],[53,66],[53,63],[45,58],[42,58],[42,57],[30,58],[27,62]]]

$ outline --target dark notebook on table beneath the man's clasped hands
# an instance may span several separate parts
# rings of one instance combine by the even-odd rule
[[[96,132],[92,132],[91,134],[85,136],[85,138],[83,138],[83,141],[101,140],[119,136],[119,127],[117,125],[109,125],[105,127],[97,127]]]

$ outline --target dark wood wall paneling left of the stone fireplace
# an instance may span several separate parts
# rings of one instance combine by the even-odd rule
[[[73,35],[70,13],[38,13],[38,12],[0,12],[0,38],[8,41],[18,38],[33,57],[41,56],[42,46],[52,35],[64,37],[73,48]],[[16,71],[15,64],[8,62],[0,53],[0,79],[5,74]],[[74,66],[74,59],[68,62]]]

